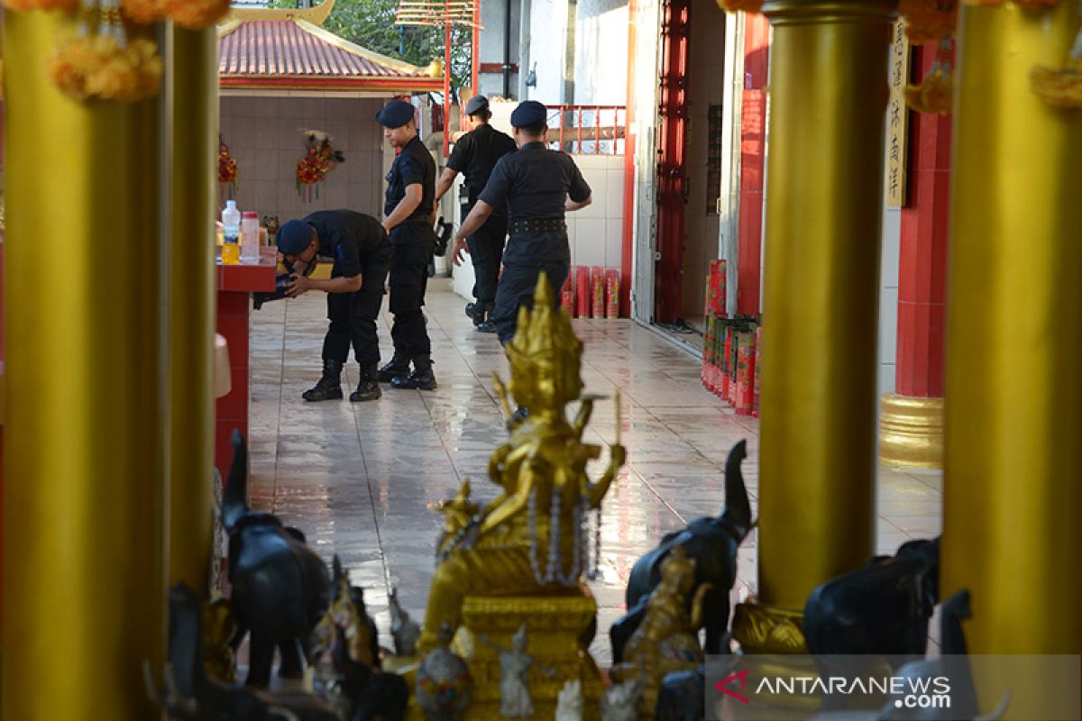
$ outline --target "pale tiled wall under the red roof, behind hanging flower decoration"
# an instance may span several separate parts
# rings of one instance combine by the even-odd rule
[[[285,223],[317,210],[383,212],[383,134],[377,98],[237,97],[221,99],[221,132],[237,161],[237,206]],[[345,162],[328,173],[319,199],[302,202],[296,163],[306,152],[302,130],[333,136]],[[220,195],[220,202],[221,202]],[[224,204],[224,203],[223,203]]]

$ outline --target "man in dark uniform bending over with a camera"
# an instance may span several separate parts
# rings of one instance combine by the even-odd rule
[[[375,400],[380,397],[375,319],[391,265],[391,243],[383,226],[362,213],[319,211],[302,221],[287,221],[278,229],[276,241],[282,263],[293,273],[289,296],[309,290],[327,292],[331,324],[324,338],[324,375],[302,397],[306,401],[342,398],[342,366],[352,343],[360,364],[360,383],[349,400]],[[330,280],[308,278],[317,255],[333,259]]]

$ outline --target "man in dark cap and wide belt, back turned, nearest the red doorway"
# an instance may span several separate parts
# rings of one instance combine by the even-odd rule
[[[571,157],[545,147],[547,110],[537,101],[520,103],[511,114],[518,150],[496,163],[470,216],[459,228],[458,246],[492,214],[506,204],[511,237],[503,252],[503,273],[496,292],[492,321],[500,343],[515,334],[518,307],[529,306],[538,275],[545,271],[559,302],[559,290],[570,271],[566,211],[592,202],[590,186]],[[459,256],[454,257],[460,264]]]

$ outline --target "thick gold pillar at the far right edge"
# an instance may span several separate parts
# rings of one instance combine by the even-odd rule
[[[1079,5],[961,8],[942,591],[973,595],[972,653],[1078,654],[1082,111],[1045,105],[1030,71],[1063,66]]]

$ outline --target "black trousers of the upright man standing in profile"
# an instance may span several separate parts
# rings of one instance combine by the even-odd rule
[[[407,221],[391,229],[391,338],[401,360],[428,360],[432,343],[421,306],[436,236],[427,223]]]

